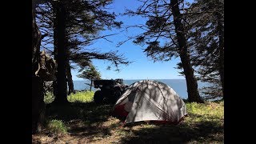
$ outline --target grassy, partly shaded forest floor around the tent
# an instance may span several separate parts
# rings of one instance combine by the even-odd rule
[[[178,125],[138,122],[122,126],[110,116],[112,105],[96,105],[92,94],[72,98],[70,106],[46,105],[48,124],[41,134],[32,135],[32,143],[224,143],[223,101],[187,102],[188,117]],[[55,126],[57,130],[50,127],[54,120],[63,124]]]

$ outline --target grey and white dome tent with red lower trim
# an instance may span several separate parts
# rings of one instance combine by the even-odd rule
[[[124,118],[125,123],[154,121],[178,124],[186,114],[185,103],[170,86],[150,80],[128,86],[113,111],[113,115]]]

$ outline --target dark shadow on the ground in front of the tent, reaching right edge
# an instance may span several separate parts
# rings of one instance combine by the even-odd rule
[[[215,122],[188,125],[160,125],[133,130],[134,135],[123,137],[122,143],[212,143],[224,142],[224,128]]]

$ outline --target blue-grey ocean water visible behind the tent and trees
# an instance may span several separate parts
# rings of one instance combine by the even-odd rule
[[[130,85],[134,82],[138,82],[142,79],[133,79],[133,80],[123,80],[126,85]],[[166,85],[173,88],[179,95],[180,98],[187,98],[186,91],[186,79],[154,79],[159,82],[166,83]],[[86,85],[86,83],[90,84],[90,81],[74,81],[74,90],[90,90],[90,85]],[[198,82],[198,89],[202,88],[202,86],[207,86],[208,84],[205,82]],[[94,87],[92,90],[95,91]]]

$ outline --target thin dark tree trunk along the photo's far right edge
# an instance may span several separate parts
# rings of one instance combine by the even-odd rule
[[[222,17],[221,14],[217,13],[218,18],[218,51],[219,51],[219,59],[218,59],[218,71],[221,77],[222,82],[222,94],[224,98],[224,26],[222,25]]]

